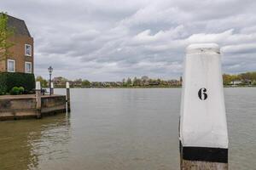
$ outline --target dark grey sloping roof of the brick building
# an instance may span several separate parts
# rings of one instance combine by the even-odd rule
[[[15,34],[31,37],[24,20],[8,15],[8,26],[15,28]]]

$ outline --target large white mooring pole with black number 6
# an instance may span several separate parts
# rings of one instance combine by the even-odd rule
[[[182,170],[227,170],[228,132],[218,45],[186,51],[179,126]]]

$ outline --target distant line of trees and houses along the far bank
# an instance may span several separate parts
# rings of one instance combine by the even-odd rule
[[[36,81],[41,82],[42,87],[48,88],[49,81],[43,77],[37,77]],[[177,88],[181,87],[183,79],[180,77],[172,80],[154,79],[149,77],[124,78],[120,82],[90,82],[81,78],[74,81],[65,77],[55,77],[52,82],[55,88],[65,88],[66,82],[71,88]],[[256,86],[256,71],[236,75],[224,74],[224,86]]]

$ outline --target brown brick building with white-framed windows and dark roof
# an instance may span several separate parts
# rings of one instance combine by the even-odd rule
[[[0,72],[33,73],[33,38],[25,21],[8,15],[8,26],[15,29],[14,36],[9,38],[14,46],[9,48],[10,56],[0,61]]]

